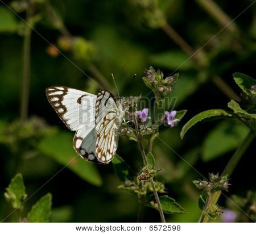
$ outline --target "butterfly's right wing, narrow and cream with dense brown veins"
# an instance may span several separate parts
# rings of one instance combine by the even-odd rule
[[[117,151],[118,128],[123,118],[122,107],[108,91],[101,90],[96,99],[96,157],[108,164]]]

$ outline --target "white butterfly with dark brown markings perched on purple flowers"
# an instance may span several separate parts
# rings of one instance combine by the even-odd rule
[[[124,110],[112,93],[101,90],[97,95],[65,86],[46,89],[49,103],[60,119],[76,131],[73,147],[86,161],[108,164],[118,145],[118,130]]]

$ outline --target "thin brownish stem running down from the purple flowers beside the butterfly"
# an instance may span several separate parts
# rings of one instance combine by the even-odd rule
[[[147,156],[146,156],[146,153],[144,151],[143,145],[141,143],[141,136],[139,134],[139,128],[138,128],[138,123],[137,123],[135,114],[133,114],[133,119],[134,119],[134,126],[135,126],[135,130],[136,130],[136,134],[137,134],[139,149],[141,150],[141,155],[142,155],[142,158],[143,158],[143,161],[144,161],[144,165],[148,166]],[[151,178],[150,182],[151,182],[151,185],[152,185],[152,189],[153,189],[153,193],[154,193],[154,196],[155,196],[156,203],[158,204],[158,210],[159,210],[159,214],[160,214],[162,223],[166,223],[166,219],[164,218],[164,214],[163,214],[163,208],[161,206],[161,203],[160,203],[160,200],[159,200],[159,197],[158,197],[158,192],[156,191],[156,188],[155,188],[154,179]]]

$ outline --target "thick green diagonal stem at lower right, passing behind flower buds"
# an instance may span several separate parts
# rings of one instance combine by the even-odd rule
[[[232,158],[230,158],[230,160],[229,160],[228,164],[226,165],[224,171],[222,172],[221,176],[227,175],[228,178],[231,176],[231,174],[233,173],[234,169],[236,168],[238,162],[240,161],[241,157],[245,153],[246,149],[249,147],[251,141],[253,141],[255,135],[256,135],[256,133],[253,130],[250,130],[250,132],[247,134],[245,139],[238,146],[236,152],[234,152]],[[208,210],[208,207],[210,205],[214,205],[217,203],[220,195],[221,195],[221,191],[216,191],[210,196],[209,203],[207,204],[207,206],[205,205],[206,210]],[[207,215],[203,214],[203,218],[202,218],[201,222],[206,223],[206,222],[208,222],[208,220],[209,220],[209,217]]]

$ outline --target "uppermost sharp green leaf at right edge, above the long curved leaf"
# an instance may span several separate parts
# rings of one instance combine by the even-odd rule
[[[243,90],[243,92],[249,96],[255,96],[254,91],[251,89],[252,86],[256,86],[256,80],[254,78],[246,76],[240,72],[234,73],[233,77],[234,81],[236,81],[237,85]]]

